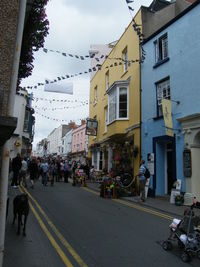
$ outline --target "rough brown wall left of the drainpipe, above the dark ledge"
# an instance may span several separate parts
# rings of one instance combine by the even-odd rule
[[[0,116],[7,116],[19,2],[0,1]]]

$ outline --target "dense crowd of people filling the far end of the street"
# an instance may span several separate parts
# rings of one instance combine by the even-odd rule
[[[62,159],[59,156],[21,158],[20,154],[17,154],[10,161],[11,186],[17,188],[22,182],[27,187],[27,182],[30,181],[30,187],[33,189],[35,181],[40,178],[43,186],[47,186],[48,183],[53,186],[55,182],[60,181],[68,183],[68,178],[74,177],[77,169],[80,168],[84,169],[84,173],[89,178],[90,168],[88,164]]]

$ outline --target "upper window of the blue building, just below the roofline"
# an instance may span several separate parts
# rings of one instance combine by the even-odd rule
[[[168,58],[168,37],[167,34],[155,41],[156,63]]]

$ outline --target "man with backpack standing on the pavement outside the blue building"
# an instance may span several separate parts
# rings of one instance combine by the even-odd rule
[[[142,159],[140,161],[140,168],[138,174],[136,174],[136,177],[139,177],[139,187],[140,187],[140,195],[141,195],[141,200],[145,202],[145,184],[146,180],[150,177],[149,170],[145,166],[145,161]]]

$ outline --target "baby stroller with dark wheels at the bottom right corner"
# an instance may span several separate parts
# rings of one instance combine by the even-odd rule
[[[200,216],[195,216],[194,208],[197,207],[192,205],[190,209],[186,209],[182,220],[173,219],[169,225],[170,235],[162,243],[164,250],[172,250],[172,243],[178,242],[184,262],[189,262],[193,256],[200,259]]]

